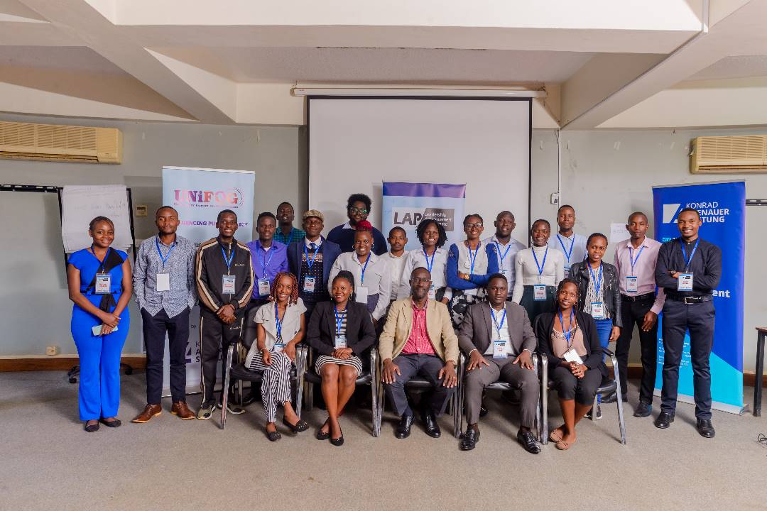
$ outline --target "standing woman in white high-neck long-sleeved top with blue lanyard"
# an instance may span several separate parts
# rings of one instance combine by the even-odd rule
[[[541,313],[555,310],[555,289],[565,278],[565,257],[548,247],[551,226],[536,220],[530,228],[532,247],[517,253],[512,300],[525,307],[530,324]]]

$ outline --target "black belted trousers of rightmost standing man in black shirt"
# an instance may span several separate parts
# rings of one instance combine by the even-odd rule
[[[693,366],[695,416],[711,418],[711,370],[709,357],[714,342],[714,304],[682,303],[667,298],[663,305],[663,390],[660,410],[673,414],[679,387],[684,334],[690,331],[690,364]]]

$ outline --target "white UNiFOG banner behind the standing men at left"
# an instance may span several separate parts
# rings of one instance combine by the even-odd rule
[[[163,205],[179,212],[177,234],[193,241],[196,247],[219,235],[216,216],[222,209],[237,214],[235,238],[251,241],[253,236],[253,190],[255,174],[244,170],[163,167]],[[200,382],[199,309],[189,314],[189,344],[186,346],[186,385]],[[170,388],[170,355],[167,346],[163,368],[163,389]]]

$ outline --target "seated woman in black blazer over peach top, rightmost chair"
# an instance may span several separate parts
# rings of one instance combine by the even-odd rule
[[[555,312],[535,319],[538,351],[548,357],[548,377],[555,382],[565,418],[565,424],[549,435],[559,450],[574,443],[575,424],[591,410],[602,377],[607,375],[594,318],[576,310],[576,303],[578,286],[571,279],[562,280]]]

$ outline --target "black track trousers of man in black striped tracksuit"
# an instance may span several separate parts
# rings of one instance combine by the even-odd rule
[[[202,401],[213,399],[213,388],[216,385],[216,366],[221,359],[221,374],[225,371],[225,355],[229,345],[236,344],[242,331],[245,310],[237,311],[237,319],[227,325],[216,316],[216,313],[200,308],[199,317],[199,362],[202,366],[200,391]]]

